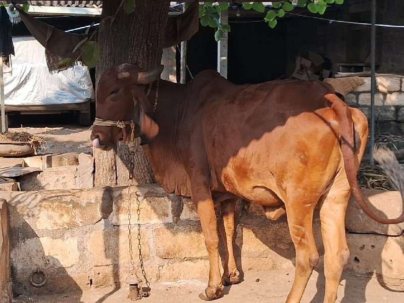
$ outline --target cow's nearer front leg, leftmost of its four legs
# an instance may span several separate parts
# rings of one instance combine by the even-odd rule
[[[209,282],[205,294],[199,294],[204,300],[217,299],[222,295],[222,279],[219,268],[219,236],[216,224],[215,207],[209,188],[193,189],[192,200],[196,204],[200,225],[205,236],[209,255]]]

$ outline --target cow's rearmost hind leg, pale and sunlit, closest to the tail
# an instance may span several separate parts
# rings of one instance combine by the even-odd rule
[[[334,186],[320,199],[321,232],[324,242],[324,303],[334,303],[342,270],[349,258],[345,236],[345,211],[349,185]]]

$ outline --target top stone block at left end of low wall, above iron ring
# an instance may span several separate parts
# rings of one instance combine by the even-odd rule
[[[112,188],[1,192],[13,213],[11,226],[56,230],[94,224],[112,212]]]

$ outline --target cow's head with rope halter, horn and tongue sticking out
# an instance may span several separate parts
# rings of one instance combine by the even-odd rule
[[[124,63],[110,67],[99,78],[96,96],[96,123],[91,131],[92,145],[110,150],[118,140],[124,141],[131,133],[130,121],[135,127],[135,136],[140,144],[153,140],[159,127],[146,113],[151,111],[147,90],[160,78],[164,66],[151,71],[142,71],[137,65]],[[148,85],[147,85],[148,84]],[[153,98],[154,99],[154,98]],[[123,128],[103,125],[126,123]],[[100,122],[101,121],[101,122]]]

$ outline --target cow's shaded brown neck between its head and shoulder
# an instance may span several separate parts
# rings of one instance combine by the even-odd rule
[[[159,81],[159,97],[156,111],[150,117],[159,125],[159,134],[143,149],[151,168],[160,183],[168,192],[189,195],[186,172],[177,156],[178,131],[186,112],[188,85]],[[148,96],[151,107],[156,100],[156,84]]]

